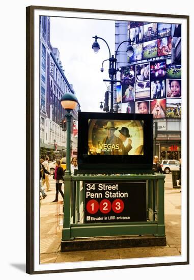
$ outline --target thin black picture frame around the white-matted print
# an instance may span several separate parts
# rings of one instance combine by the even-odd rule
[[[125,12],[125,11],[108,11],[108,10],[91,10],[91,9],[75,9],[75,8],[58,8],[58,7],[40,7],[30,6],[26,7],[26,161],[28,167],[26,168],[26,273],[29,274],[42,274],[42,273],[59,273],[59,272],[72,272],[72,271],[89,271],[89,270],[106,270],[106,269],[124,269],[124,268],[138,268],[138,267],[154,267],[154,266],[170,266],[170,265],[185,265],[189,264],[189,71],[186,75],[186,260],[183,262],[173,263],[156,263],[156,264],[136,264],[136,265],[122,265],[122,266],[103,266],[103,267],[84,267],[84,268],[70,268],[70,269],[56,269],[56,270],[35,270],[34,267],[34,144],[35,144],[35,127],[34,127],[34,82],[35,82],[35,70],[34,70],[34,13],[35,10],[48,11],[69,11],[76,13],[96,13],[101,15],[132,15],[132,16],[147,16],[163,18],[174,18],[186,20],[186,64],[189,69],[189,16],[187,15],[171,15],[171,14],[155,14],[155,13],[137,13],[137,12]]]

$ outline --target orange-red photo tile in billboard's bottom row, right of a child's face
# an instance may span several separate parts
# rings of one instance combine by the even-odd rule
[[[155,99],[150,101],[150,113],[154,119],[165,118],[166,99]]]

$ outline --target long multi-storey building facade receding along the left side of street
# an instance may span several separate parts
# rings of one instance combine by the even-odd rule
[[[50,17],[40,16],[40,156],[50,159],[66,155],[66,131],[60,127],[65,119],[61,106],[64,93],[73,93],[73,86],[67,80],[60,51],[50,43]],[[78,107],[73,110],[73,120],[77,120]],[[72,133],[72,150],[77,149],[77,135]]]

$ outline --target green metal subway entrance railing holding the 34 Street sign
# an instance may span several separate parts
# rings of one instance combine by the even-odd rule
[[[80,237],[164,237],[164,178],[65,176],[62,242]]]

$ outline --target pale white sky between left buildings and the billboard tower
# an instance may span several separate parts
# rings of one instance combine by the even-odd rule
[[[105,39],[110,53],[115,53],[115,21],[50,17],[50,42],[59,49],[65,76],[73,85],[81,111],[103,112],[99,106],[109,86],[103,81],[109,79],[109,62],[104,62],[104,72],[100,68],[109,58],[109,51],[105,42],[98,39],[100,50],[94,52],[95,35]]]

